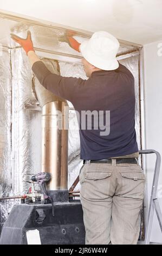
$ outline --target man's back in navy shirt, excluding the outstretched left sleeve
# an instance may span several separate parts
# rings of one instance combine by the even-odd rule
[[[104,159],[138,151],[134,77],[124,65],[93,72],[87,81],[77,84],[72,103],[79,113],[81,159]]]

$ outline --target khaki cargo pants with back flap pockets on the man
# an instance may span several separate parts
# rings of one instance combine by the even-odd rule
[[[79,178],[86,245],[137,244],[146,181],[138,161],[86,163]]]

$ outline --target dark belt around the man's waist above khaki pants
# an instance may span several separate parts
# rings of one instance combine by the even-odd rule
[[[83,164],[86,163],[112,163],[113,159],[100,159],[100,160],[83,160]],[[115,159],[116,160],[116,164],[118,163],[137,163],[138,164],[138,160],[133,157],[133,158],[121,158],[121,159]]]

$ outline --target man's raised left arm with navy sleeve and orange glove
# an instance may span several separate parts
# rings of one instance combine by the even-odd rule
[[[20,44],[27,53],[31,68],[42,86],[63,99],[73,101],[77,86],[84,83],[84,80],[75,77],[62,77],[51,73],[34,51],[30,31],[28,31],[26,39],[14,34],[11,34],[11,38]],[[80,44],[76,44],[77,41],[75,39],[74,42],[75,47],[79,49]]]

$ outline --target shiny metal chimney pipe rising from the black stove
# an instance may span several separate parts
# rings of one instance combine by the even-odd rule
[[[42,59],[47,68],[60,75],[57,60]],[[47,189],[68,189],[68,103],[44,88],[37,78],[34,94],[42,108],[41,172],[51,174]]]

